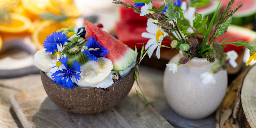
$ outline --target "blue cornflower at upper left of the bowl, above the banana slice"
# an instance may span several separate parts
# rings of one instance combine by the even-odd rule
[[[46,40],[44,41],[44,48],[46,49],[45,52],[50,52],[51,54],[54,53],[54,50],[57,49],[57,44],[64,44],[67,42],[68,37],[66,37],[65,33],[56,32],[52,35],[46,36]]]

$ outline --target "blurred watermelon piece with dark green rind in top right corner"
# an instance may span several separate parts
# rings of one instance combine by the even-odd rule
[[[221,6],[222,9],[225,9],[230,0],[222,0]],[[236,25],[246,25],[249,23],[255,23],[255,14],[256,14],[256,1],[255,0],[236,0],[234,4],[231,5],[233,10],[243,3],[244,5],[238,9],[238,11],[232,16],[233,24]]]

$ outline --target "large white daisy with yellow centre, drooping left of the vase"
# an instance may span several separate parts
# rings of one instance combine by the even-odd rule
[[[149,38],[148,43],[145,45],[145,49],[148,49],[148,56],[149,58],[152,56],[154,50],[156,49],[156,56],[159,59],[160,58],[160,48],[161,42],[163,41],[164,37],[166,36],[166,33],[164,32],[164,29],[159,26],[155,25],[154,20],[148,19],[147,22],[147,32],[143,32],[141,34],[142,37]],[[159,44],[159,45],[158,45]]]

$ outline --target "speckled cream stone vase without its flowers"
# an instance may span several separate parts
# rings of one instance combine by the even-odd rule
[[[181,57],[182,51],[168,63],[178,63]],[[227,71],[221,70],[213,75],[215,84],[203,84],[200,78],[200,74],[209,72],[214,63],[210,63],[206,58],[194,57],[188,63],[180,65],[175,74],[169,71],[168,67],[165,68],[165,97],[178,115],[200,119],[211,115],[218,108],[228,84]]]

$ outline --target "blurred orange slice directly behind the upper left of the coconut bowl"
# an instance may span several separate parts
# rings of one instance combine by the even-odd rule
[[[74,26],[74,24],[68,24],[65,21],[62,22],[54,22],[54,21],[44,21],[41,22],[32,34],[32,41],[36,44],[37,49],[43,49],[43,43],[46,39],[46,36],[52,34],[61,28],[68,28],[69,26]]]

